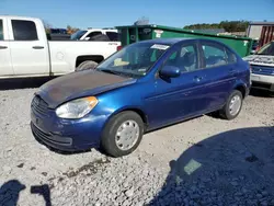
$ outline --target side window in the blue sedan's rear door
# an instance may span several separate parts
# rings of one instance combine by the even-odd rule
[[[225,48],[218,45],[202,45],[206,68],[227,65],[227,55]]]

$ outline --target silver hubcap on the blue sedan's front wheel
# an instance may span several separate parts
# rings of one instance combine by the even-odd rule
[[[132,149],[138,140],[139,133],[139,125],[135,121],[124,122],[115,136],[116,146],[121,150]]]

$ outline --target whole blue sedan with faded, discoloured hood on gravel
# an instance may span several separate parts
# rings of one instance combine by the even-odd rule
[[[249,64],[219,42],[144,41],[94,70],[42,85],[31,127],[37,140],[59,150],[101,147],[121,157],[152,129],[216,111],[233,119],[249,89]]]

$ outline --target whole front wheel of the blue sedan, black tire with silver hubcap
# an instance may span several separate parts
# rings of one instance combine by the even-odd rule
[[[122,125],[125,125],[126,123],[129,123],[129,122],[134,122],[135,124],[137,124],[137,126],[135,125],[136,129],[137,127],[139,128],[139,133],[138,135],[136,135],[136,138],[133,138],[135,134],[134,131],[136,130],[130,131],[130,129],[133,129],[133,128],[129,128],[130,126],[126,126],[126,128],[129,129],[129,137],[128,137],[128,133],[127,135],[124,135],[124,136],[122,135],[122,134],[125,134],[124,133],[125,130],[122,130],[121,135],[117,135],[118,129],[121,129]],[[132,134],[132,137],[130,137],[130,134]],[[103,133],[102,133],[102,137],[101,137],[101,147],[107,154],[114,158],[127,156],[132,153],[139,146],[142,135],[144,135],[144,122],[141,117],[135,112],[130,112],[130,111],[122,112],[113,116],[109,121],[109,123],[105,125]],[[122,144],[117,141],[122,142],[123,139],[125,139],[124,137],[127,137],[127,140],[129,139],[129,141],[133,141],[132,142],[133,145],[130,148],[124,148],[124,149],[121,148]],[[128,144],[127,140],[124,141],[125,144],[123,146],[126,146]]]

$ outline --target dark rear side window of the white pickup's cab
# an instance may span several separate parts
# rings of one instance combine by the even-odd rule
[[[12,30],[14,41],[37,41],[37,31],[35,23],[24,20],[12,20]]]

